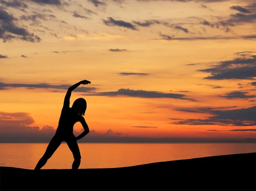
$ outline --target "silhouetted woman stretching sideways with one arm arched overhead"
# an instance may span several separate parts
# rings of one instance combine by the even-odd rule
[[[90,83],[90,81],[83,80],[68,88],[56,133],[54,137],[52,137],[52,140],[50,141],[43,157],[38,161],[35,170],[41,169],[46,164],[47,160],[52,157],[52,154],[56,151],[59,145],[61,145],[62,141],[66,141],[68,147],[72,151],[74,157],[72,169],[79,168],[81,155],[76,141],[89,133],[88,125],[83,117],[87,103],[83,98],[78,98],[74,101],[72,107],[70,108],[70,96],[71,92],[79,85],[88,83]],[[84,132],[82,132],[78,137],[75,137],[73,134],[73,126],[76,122],[80,122],[84,128]]]

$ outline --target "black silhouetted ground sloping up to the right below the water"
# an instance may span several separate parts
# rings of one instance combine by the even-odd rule
[[[1,191],[256,191],[256,153],[122,168],[0,167]]]

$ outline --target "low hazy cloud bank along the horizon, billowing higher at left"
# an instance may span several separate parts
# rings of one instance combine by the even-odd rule
[[[6,113],[0,111],[0,143],[49,143],[54,136],[56,129],[49,125],[44,125],[42,128],[32,126],[34,119],[29,113]],[[2,123],[3,122],[3,123]],[[138,126],[139,128],[148,128]],[[152,127],[149,127],[152,128]],[[153,127],[155,128],[155,127]],[[84,131],[73,131],[75,136]],[[95,130],[90,130],[90,133],[84,139],[78,142],[84,143],[256,143],[256,139],[220,139],[220,138],[191,138],[191,137],[132,137],[127,133],[120,133],[108,129],[105,133],[99,133]]]

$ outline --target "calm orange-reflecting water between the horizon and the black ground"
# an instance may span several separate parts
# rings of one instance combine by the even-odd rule
[[[0,166],[34,169],[48,143],[1,143]],[[79,168],[115,168],[256,152],[256,143],[79,143]],[[66,143],[55,151],[42,169],[71,168],[73,155]]]

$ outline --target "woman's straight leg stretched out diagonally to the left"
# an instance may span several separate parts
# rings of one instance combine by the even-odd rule
[[[52,154],[56,151],[56,149],[61,145],[61,138],[54,135],[52,140],[50,141],[47,149],[43,155],[43,157],[38,161],[38,164],[35,166],[35,170],[41,169],[47,162],[47,160],[52,157]]]

